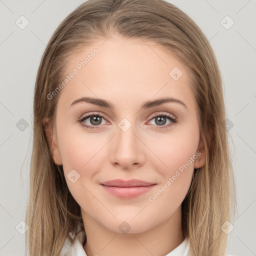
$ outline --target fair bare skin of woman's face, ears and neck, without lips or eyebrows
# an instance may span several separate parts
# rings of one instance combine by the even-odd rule
[[[56,164],[63,164],[68,189],[81,207],[87,235],[83,247],[88,256],[165,255],[185,238],[181,230],[181,202],[194,168],[205,162],[188,71],[170,51],[155,43],[111,36],[74,55],[66,74],[95,47],[99,53],[58,95],[54,129],[49,128],[48,118],[43,120],[52,157]],[[173,67],[183,72],[178,80],[169,75]],[[87,102],[70,107],[82,96],[103,98],[115,108]],[[166,102],[140,108],[146,100],[165,96],[177,98],[187,107]],[[89,117],[83,123],[96,128],[86,129],[77,122],[94,111],[104,116],[101,123],[99,120],[100,124],[95,125]],[[166,117],[160,125],[157,117],[152,117],[155,113],[169,113],[177,122],[167,127],[171,120]],[[123,118],[131,123],[127,131],[118,126]],[[200,151],[200,156],[154,202],[149,201],[148,197],[196,151]],[[80,175],[74,183],[67,178],[72,169]],[[137,197],[123,199],[99,185],[115,178],[137,178],[156,186]],[[130,226],[127,233],[118,228],[123,221]]]

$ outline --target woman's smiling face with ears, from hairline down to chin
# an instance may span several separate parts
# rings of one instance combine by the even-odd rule
[[[83,219],[119,233],[123,221],[137,233],[170,219],[180,210],[194,168],[204,164],[185,66],[154,43],[110,37],[74,55],[66,75],[72,71],[58,92],[54,132],[47,135]],[[76,101],[82,97],[99,105]],[[166,97],[177,101],[147,102]],[[107,185],[113,179],[148,184]]]

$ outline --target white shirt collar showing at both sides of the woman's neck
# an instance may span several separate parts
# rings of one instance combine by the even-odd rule
[[[70,241],[66,239],[64,246],[60,252],[60,256],[87,256],[83,247],[82,242],[84,241],[84,232],[79,232],[74,240],[72,246]],[[165,256],[191,256],[189,253],[189,240],[186,237],[176,248],[167,253]],[[232,256],[232,255],[226,255]]]

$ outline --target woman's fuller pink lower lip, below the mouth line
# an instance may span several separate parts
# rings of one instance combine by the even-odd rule
[[[129,199],[132,197],[139,196],[143,193],[148,192],[150,189],[152,189],[155,184],[150,186],[132,186],[132,187],[119,187],[119,186],[106,186],[102,185],[104,189],[113,195],[116,195],[119,198],[123,199]]]

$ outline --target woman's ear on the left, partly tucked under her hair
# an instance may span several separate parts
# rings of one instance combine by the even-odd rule
[[[62,160],[61,160],[60,152],[56,142],[57,141],[56,135],[48,117],[43,118],[42,125],[44,127],[45,135],[47,137],[47,142],[50,148],[53,161],[55,162],[55,164],[61,165]]]

